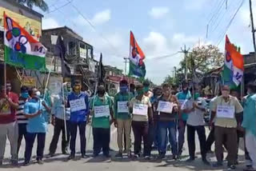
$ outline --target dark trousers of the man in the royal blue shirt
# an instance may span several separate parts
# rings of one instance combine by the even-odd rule
[[[86,154],[86,121],[72,122],[70,121],[70,154],[74,156],[75,154],[75,141],[77,138],[77,133],[79,129],[80,135],[80,150],[81,154]]]

